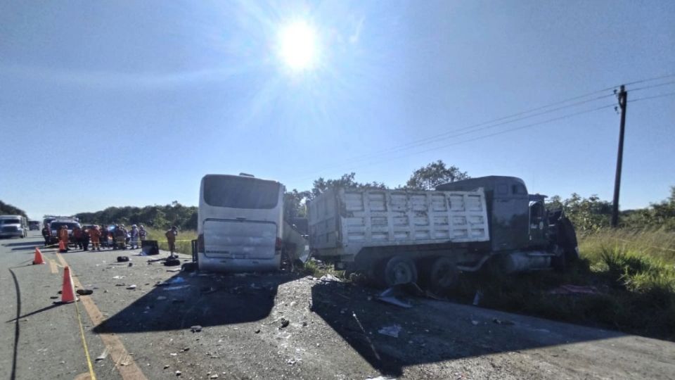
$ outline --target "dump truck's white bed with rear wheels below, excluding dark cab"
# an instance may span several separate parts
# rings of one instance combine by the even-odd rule
[[[309,238],[313,253],[333,258],[338,269],[366,272],[389,286],[417,281],[418,268],[452,282],[456,263],[473,258],[443,252],[489,242],[485,194],[329,190],[309,203]]]

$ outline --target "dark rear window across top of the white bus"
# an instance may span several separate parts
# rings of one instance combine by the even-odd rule
[[[275,208],[279,201],[278,182],[250,177],[207,176],[204,201],[228,208]]]

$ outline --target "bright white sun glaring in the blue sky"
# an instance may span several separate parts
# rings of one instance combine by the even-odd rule
[[[316,65],[318,46],[316,33],[307,23],[286,25],[279,33],[279,55],[293,70],[307,70]]]

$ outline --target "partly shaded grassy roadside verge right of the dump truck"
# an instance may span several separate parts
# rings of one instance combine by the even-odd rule
[[[675,341],[675,233],[607,229],[579,236],[579,250],[565,272],[465,275],[456,297],[470,303],[480,290],[486,308]],[[563,284],[597,293],[550,293]]]

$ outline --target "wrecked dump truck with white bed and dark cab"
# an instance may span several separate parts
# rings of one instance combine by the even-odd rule
[[[574,227],[545,198],[504,176],[435,191],[330,189],[308,205],[309,248],[385,286],[449,289],[458,272],[487,263],[506,273],[564,269],[579,255]]]

